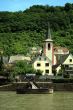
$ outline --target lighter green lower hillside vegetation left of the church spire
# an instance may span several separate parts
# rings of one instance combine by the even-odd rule
[[[21,32],[21,33],[0,33],[0,48],[4,55],[30,53],[31,47],[39,46],[43,33]]]

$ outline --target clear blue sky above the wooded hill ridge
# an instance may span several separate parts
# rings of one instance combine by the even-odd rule
[[[23,11],[33,5],[64,6],[73,0],[0,0],[0,11]]]

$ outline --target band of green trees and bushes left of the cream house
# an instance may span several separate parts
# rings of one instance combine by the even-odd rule
[[[36,71],[27,61],[17,61],[15,64],[7,64],[6,66],[2,63],[2,65],[0,75],[5,76],[8,81],[13,81],[16,76],[25,76],[26,74],[42,75],[42,71]]]

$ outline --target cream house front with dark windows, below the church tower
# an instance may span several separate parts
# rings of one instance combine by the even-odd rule
[[[52,75],[52,63],[48,60],[48,58],[41,57],[41,60],[39,60],[39,57],[34,61],[33,63],[34,69],[41,70],[42,75]]]

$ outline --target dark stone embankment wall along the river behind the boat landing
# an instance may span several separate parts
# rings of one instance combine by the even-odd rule
[[[0,91],[15,91],[17,87],[25,87],[27,82],[12,83],[0,86]],[[38,87],[53,88],[54,91],[73,91],[73,83],[48,83],[37,82]]]

